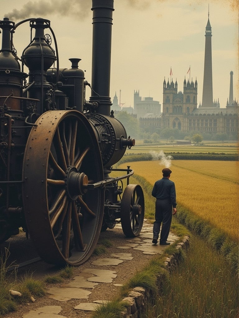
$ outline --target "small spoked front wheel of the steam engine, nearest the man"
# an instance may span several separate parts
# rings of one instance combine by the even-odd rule
[[[129,184],[125,188],[120,218],[125,236],[136,237],[140,234],[144,221],[144,194],[140,185]]]

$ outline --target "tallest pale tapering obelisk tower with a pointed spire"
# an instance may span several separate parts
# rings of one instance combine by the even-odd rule
[[[212,28],[209,21],[209,6],[208,6],[208,21],[207,21],[206,33],[205,33],[205,56],[204,56],[202,107],[214,107],[213,72],[212,72]]]

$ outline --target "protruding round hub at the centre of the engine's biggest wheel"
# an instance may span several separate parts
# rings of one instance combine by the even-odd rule
[[[79,173],[76,167],[69,167],[67,171],[67,191],[72,200],[87,192],[88,177],[83,172]]]

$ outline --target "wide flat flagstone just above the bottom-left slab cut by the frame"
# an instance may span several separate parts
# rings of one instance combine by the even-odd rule
[[[88,299],[91,292],[81,288],[75,287],[51,287],[48,291],[48,294],[52,294],[55,297],[68,298],[68,299]],[[53,297],[51,297],[53,298]],[[57,299],[57,300],[60,300]],[[60,300],[64,301],[64,300]]]

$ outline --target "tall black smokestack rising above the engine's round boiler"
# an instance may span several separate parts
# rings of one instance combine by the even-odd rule
[[[110,115],[112,105],[110,64],[113,3],[113,0],[92,0],[91,9],[93,11],[93,42],[90,101],[100,102],[97,112],[103,115]]]

